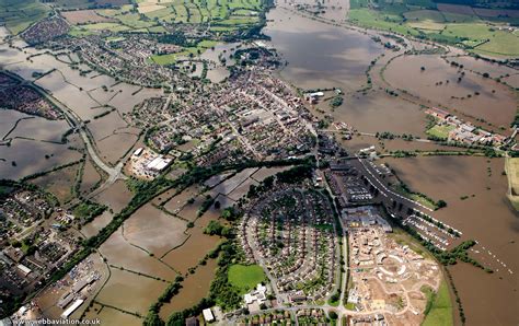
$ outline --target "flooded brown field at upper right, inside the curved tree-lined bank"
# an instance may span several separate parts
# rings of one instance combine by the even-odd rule
[[[509,126],[517,109],[516,95],[496,81],[462,72],[438,56],[420,55],[396,58],[384,77],[394,88],[407,90],[431,105],[439,103],[494,126]]]

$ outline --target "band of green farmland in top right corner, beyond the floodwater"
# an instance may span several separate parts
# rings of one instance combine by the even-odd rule
[[[382,2],[373,9],[365,0],[355,0],[349,21],[364,27],[420,36],[476,54],[508,58],[519,55],[519,35],[508,26],[508,23],[517,23],[518,16],[516,10],[475,10],[414,0]]]

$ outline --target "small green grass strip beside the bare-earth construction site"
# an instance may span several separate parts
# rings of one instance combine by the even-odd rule
[[[447,282],[443,280],[438,289],[438,293],[434,292],[429,288],[422,289],[427,295],[427,307],[426,316],[422,326],[451,326],[452,321],[452,303],[450,301],[449,288]],[[427,312],[428,310],[428,312]]]

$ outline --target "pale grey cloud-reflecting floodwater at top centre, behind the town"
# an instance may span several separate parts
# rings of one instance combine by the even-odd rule
[[[289,63],[280,74],[302,89],[357,90],[369,62],[383,53],[369,36],[302,18],[278,7],[267,14],[264,33]]]

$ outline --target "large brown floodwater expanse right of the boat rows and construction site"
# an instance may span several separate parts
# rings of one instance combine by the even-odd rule
[[[488,275],[463,263],[452,268],[468,325],[517,325],[519,217],[505,196],[503,159],[488,163],[486,158],[434,156],[387,162],[411,189],[447,201],[447,208],[432,216],[463,232],[463,240],[477,241],[471,256],[495,271]]]

